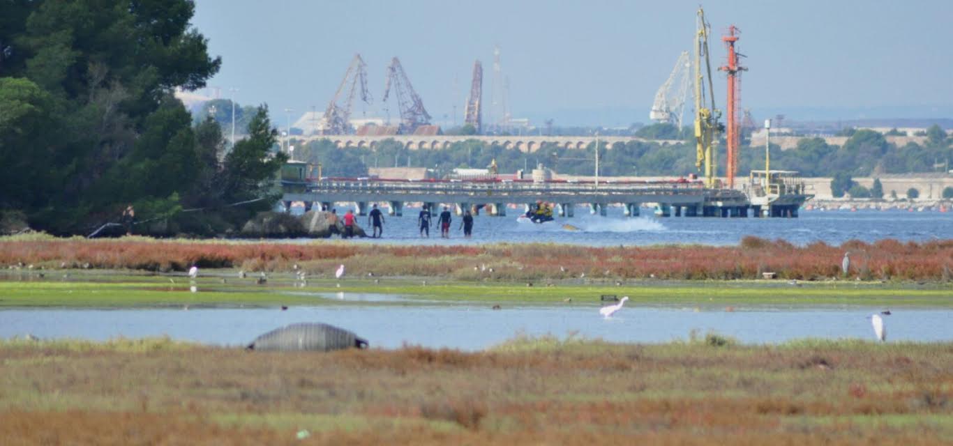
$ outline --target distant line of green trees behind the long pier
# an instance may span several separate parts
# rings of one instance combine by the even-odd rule
[[[639,129],[645,138],[681,140],[680,144],[662,145],[632,141],[625,144],[599,145],[599,174],[606,176],[685,176],[698,173],[695,166],[695,143],[687,139],[687,131],[675,126],[654,125]],[[723,150],[723,143],[720,145]],[[771,148],[771,166],[775,169],[798,170],[805,177],[833,177],[847,174],[869,177],[878,174],[935,172],[953,161],[950,139],[939,127],[927,131],[924,145],[910,143],[898,147],[887,142],[879,132],[856,130],[844,145],[829,145],[821,138],[805,138],[789,150],[778,145]],[[454,143],[446,149],[405,148],[394,140],[386,140],[375,148],[339,149],[329,140],[318,140],[295,150],[300,161],[321,163],[327,176],[364,176],[369,167],[416,166],[436,169],[443,175],[457,167],[485,167],[497,160],[500,172],[515,172],[524,166],[542,164],[560,174],[592,175],[595,172],[595,144],[585,148],[563,148],[542,145],[525,153],[476,140]],[[723,159],[723,157],[722,157]],[[763,169],[764,147],[742,145],[739,174]],[[723,167],[722,167],[723,171]]]

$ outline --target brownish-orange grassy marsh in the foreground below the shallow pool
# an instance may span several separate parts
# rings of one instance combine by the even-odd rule
[[[948,444],[953,344],[0,340],[5,444]],[[307,431],[307,434],[302,431]],[[298,440],[298,435],[306,436]]]

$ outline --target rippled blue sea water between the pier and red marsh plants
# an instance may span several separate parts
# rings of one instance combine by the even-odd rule
[[[338,207],[341,213],[345,207]],[[642,217],[622,215],[620,207],[609,208],[608,216],[590,215],[587,208],[578,206],[576,217],[558,218],[556,222],[533,224],[517,223],[518,210],[507,209],[506,217],[476,216],[474,237],[464,239],[458,229],[459,217],[454,217],[451,239],[440,239],[439,229],[431,229],[429,239],[421,239],[416,227],[418,209],[405,208],[403,217],[387,217],[384,238],[355,242],[388,242],[399,244],[470,244],[484,242],[557,242],[587,246],[649,245],[666,243],[697,243],[707,245],[737,245],[746,235],[764,239],[782,239],[797,245],[826,242],[839,245],[849,240],[876,242],[897,239],[903,242],[924,242],[953,239],[953,212],[907,212],[902,210],[875,211],[801,211],[797,219],[719,219],[719,218],[657,218],[652,211],[642,208]],[[358,220],[366,224],[366,217]],[[578,230],[563,227],[572,224]]]

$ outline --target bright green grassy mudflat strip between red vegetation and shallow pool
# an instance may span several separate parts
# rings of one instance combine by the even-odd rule
[[[256,275],[239,279],[233,270],[184,275],[46,270],[0,271],[3,307],[161,307],[168,305],[321,305],[320,295],[374,293],[428,301],[562,304],[598,303],[601,295],[629,296],[630,303],[679,305],[866,305],[953,307],[948,283],[825,281],[543,280],[461,281],[434,278],[309,278],[273,273],[264,284]],[[339,286],[338,286],[339,285]],[[191,292],[195,286],[196,292]],[[335,304],[342,304],[335,300]],[[362,303],[362,304],[367,304]]]

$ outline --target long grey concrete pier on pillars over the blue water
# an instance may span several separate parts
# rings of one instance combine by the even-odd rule
[[[587,204],[590,212],[606,215],[606,208],[622,204],[627,216],[639,216],[641,204],[655,204],[662,217],[748,217],[760,216],[739,190],[706,189],[699,181],[669,182],[533,182],[528,180],[381,180],[381,179],[297,179],[283,180],[282,202],[304,202],[306,210],[314,204],[328,209],[335,203],[355,203],[358,215],[366,215],[368,205],[386,203],[389,213],[403,215],[404,204],[429,204],[436,212],[439,204],[451,204],[457,213],[481,209],[494,216],[505,216],[507,204],[532,206],[538,201],[556,204],[560,217],[573,217],[578,204]],[[778,209],[776,217],[797,217],[797,205]]]

